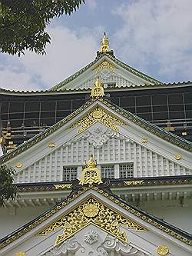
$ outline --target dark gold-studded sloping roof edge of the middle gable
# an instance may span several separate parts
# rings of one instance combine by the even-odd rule
[[[28,141],[25,141],[25,143],[18,145],[18,147],[14,148],[12,151],[9,151],[5,155],[3,155],[0,158],[0,161],[4,163],[5,161],[8,161],[11,158],[14,158],[16,155],[21,154],[23,151],[27,150],[28,148],[31,148],[33,145],[37,144],[39,141],[42,141],[44,138],[53,134],[63,125],[66,125],[68,121],[71,121],[74,117],[81,114],[82,111],[84,111],[86,108],[93,105],[95,102],[98,102],[98,104],[99,102],[101,102],[103,105],[111,109],[111,111],[116,112],[118,115],[121,115],[123,118],[126,118],[128,121],[132,121],[134,124],[140,126],[141,128],[144,128],[145,130],[151,132],[153,135],[156,135],[157,137],[163,139],[164,141],[168,141],[171,144],[176,145],[177,147],[183,148],[186,151],[192,151],[192,142],[186,141],[184,140],[184,138],[180,138],[179,136],[174,135],[169,131],[164,131],[162,128],[159,128],[157,125],[151,124],[149,121],[145,121],[144,119],[138,117],[137,115],[134,115],[131,112],[126,111],[123,108],[119,107],[118,105],[115,105],[111,101],[108,101],[103,98],[99,98],[99,99],[92,98],[89,101],[85,102],[85,104],[82,105],[80,108],[78,108],[76,111],[71,113],[71,115],[68,115],[68,117],[62,119],[61,121],[58,121],[58,123],[56,123],[55,125],[52,125],[50,128],[46,129],[45,131],[41,131],[40,134],[35,135],[33,138],[29,139]]]

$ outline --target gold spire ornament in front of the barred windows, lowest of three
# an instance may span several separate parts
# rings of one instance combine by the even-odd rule
[[[101,181],[101,173],[97,168],[97,162],[94,160],[94,156],[91,154],[88,162],[84,163],[84,169],[81,171],[80,185],[92,184],[92,183],[103,183]]]

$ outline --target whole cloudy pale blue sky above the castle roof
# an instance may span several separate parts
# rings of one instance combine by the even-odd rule
[[[192,0],[86,0],[48,26],[47,55],[0,54],[0,87],[51,88],[95,58],[107,32],[121,61],[160,81],[192,80]]]

